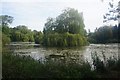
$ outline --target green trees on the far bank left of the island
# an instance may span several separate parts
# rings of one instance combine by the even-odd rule
[[[0,16],[0,31],[2,32],[2,44],[8,44],[10,42],[42,42],[41,31],[31,31],[25,25],[19,25],[14,28],[10,28],[9,24],[13,21],[13,17],[8,15]]]

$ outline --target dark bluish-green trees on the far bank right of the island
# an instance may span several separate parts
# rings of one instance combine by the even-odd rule
[[[117,26],[103,26],[89,32],[90,43],[118,43],[120,42],[120,24]]]

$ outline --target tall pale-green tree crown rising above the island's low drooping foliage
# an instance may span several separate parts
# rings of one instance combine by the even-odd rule
[[[69,32],[84,35],[84,27],[83,14],[78,13],[74,8],[67,8],[55,19],[48,18],[43,31],[47,33]]]

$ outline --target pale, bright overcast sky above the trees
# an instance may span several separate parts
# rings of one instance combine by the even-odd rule
[[[26,25],[29,29],[42,31],[48,17],[57,17],[67,7],[83,12],[85,29],[94,31],[103,25],[108,4],[101,0],[2,0],[0,15],[14,17],[11,27]]]

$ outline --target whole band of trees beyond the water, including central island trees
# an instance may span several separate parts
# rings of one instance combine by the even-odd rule
[[[35,42],[44,46],[73,47],[90,43],[120,42],[120,24],[117,26],[103,26],[87,35],[83,14],[73,8],[67,8],[56,18],[48,18],[43,32],[31,31],[25,25],[10,28],[13,17],[0,16],[0,31],[2,43]]]

